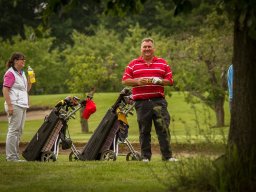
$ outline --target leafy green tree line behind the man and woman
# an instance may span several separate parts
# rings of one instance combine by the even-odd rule
[[[172,90],[186,91],[188,101],[199,98],[215,111],[216,125],[223,126],[225,71],[232,53],[229,20],[208,1],[196,1],[192,12],[176,17],[172,1],[142,3],[137,13],[116,16],[104,14],[104,7],[111,7],[106,1],[0,1],[1,76],[10,53],[21,50],[37,76],[31,94],[87,92],[92,87],[120,91],[125,66],[139,55],[141,39],[151,36],[156,54],[173,69]]]

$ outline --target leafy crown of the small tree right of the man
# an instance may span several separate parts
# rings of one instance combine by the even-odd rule
[[[175,86],[214,108],[214,102],[225,94],[225,72],[232,62],[230,23],[224,16],[209,14],[200,36],[190,36],[172,44]]]

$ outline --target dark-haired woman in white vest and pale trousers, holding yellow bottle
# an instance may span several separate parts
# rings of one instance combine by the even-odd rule
[[[7,161],[24,161],[19,159],[19,142],[26,119],[26,111],[29,107],[28,91],[32,87],[23,70],[25,61],[25,56],[22,53],[13,53],[6,64],[7,71],[4,75],[3,96],[8,116]]]

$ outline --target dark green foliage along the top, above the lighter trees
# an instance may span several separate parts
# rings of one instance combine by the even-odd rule
[[[55,37],[52,48],[60,49],[65,49],[68,44],[73,45],[73,30],[95,35],[93,29],[100,24],[108,30],[115,30],[122,39],[126,36],[127,29],[136,23],[147,31],[165,36],[198,33],[205,15],[215,7],[214,2],[192,1],[193,10],[189,15],[190,19],[187,19],[183,14],[174,17],[177,2],[167,0],[1,2],[0,12],[4,15],[1,20],[1,37],[4,40],[17,34],[23,39],[29,38],[25,35],[25,26],[32,26],[32,33],[37,37],[44,36],[45,31],[50,29],[51,36]],[[183,8],[190,7],[187,6],[190,5],[189,1],[179,2]],[[23,19],[17,21],[17,18]]]

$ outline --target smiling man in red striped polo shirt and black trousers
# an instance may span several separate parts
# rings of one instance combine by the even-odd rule
[[[172,71],[167,62],[154,55],[154,41],[145,38],[141,56],[132,60],[125,69],[122,84],[132,86],[140,132],[142,160],[151,160],[151,129],[154,122],[162,160],[177,161],[170,146],[170,115],[164,97],[164,86],[173,85]]]

